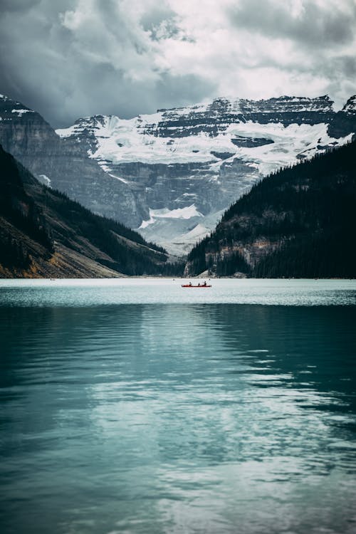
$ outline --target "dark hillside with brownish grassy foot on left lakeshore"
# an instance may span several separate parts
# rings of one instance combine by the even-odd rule
[[[0,276],[175,274],[163,248],[40,184],[0,147]]]

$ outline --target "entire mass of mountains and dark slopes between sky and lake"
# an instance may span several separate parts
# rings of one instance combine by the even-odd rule
[[[0,119],[0,276],[355,276],[355,96],[339,111],[328,96],[219,98],[54,130],[1,95]],[[316,267],[313,244],[330,258],[340,239],[342,259]],[[302,249],[309,267],[288,268]]]

